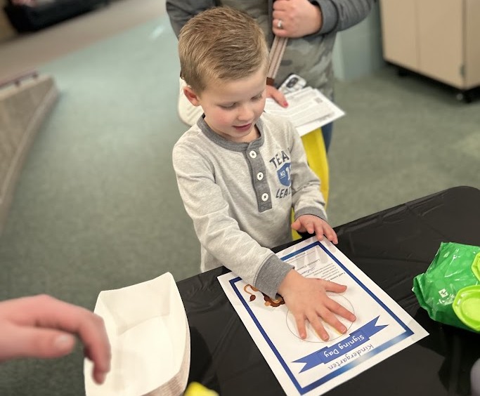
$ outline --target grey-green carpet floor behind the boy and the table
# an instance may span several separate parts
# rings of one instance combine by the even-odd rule
[[[0,237],[0,298],[98,293],[199,271],[171,148],[179,64],[166,17],[45,65],[60,98],[22,170]],[[330,150],[332,225],[453,187],[480,187],[480,103],[393,67],[337,82],[346,117]],[[460,203],[459,203],[460,204]],[[82,350],[0,366],[0,395],[84,394]]]

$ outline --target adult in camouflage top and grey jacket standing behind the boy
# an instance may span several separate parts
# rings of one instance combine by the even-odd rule
[[[366,18],[375,0],[167,0],[167,13],[177,37],[197,13],[214,6],[230,6],[257,20],[267,39],[288,37],[287,48],[275,77],[281,84],[289,74],[299,74],[306,84],[333,100],[332,51],[337,32]],[[268,88],[268,96],[285,105],[280,91]],[[332,140],[332,124],[322,127],[325,148]]]

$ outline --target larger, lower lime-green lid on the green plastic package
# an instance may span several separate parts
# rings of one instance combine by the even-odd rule
[[[480,331],[480,285],[460,289],[452,308],[463,324],[474,331]]]

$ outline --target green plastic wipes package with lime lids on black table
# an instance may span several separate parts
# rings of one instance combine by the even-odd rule
[[[437,322],[480,332],[480,247],[442,242],[413,292]]]

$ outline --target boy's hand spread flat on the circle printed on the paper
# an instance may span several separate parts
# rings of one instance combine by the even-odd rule
[[[329,336],[323,327],[322,320],[344,334],[346,327],[335,314],[353,322],[356,320],[352,312],[327,296],[327,291],[342,293],[346,286],[324,279],[306,278],[297,271],[288,272],[278,288],[278,293],[285,300],[290,312],[295,318],[299,336],[306,338],[305,321],[308,320],[318,336],[327,341]]]

